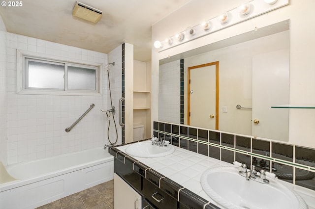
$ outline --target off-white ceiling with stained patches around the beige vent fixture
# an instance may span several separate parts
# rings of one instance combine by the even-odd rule
[[[134,59],[151,60],[151,26],[190,0],[79,0],[103,12],[96,24],[75,18],[76,0],[23,0],[0,7],[8,32],[108,53],[134,45]]]

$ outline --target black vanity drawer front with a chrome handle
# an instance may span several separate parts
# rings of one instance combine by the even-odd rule
[[[157,209],[177,209],[177,200],[146,179],[143,180],[143,196]]]

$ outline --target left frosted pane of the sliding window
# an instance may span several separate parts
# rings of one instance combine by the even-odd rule
[[[64,64],[28,60],[26,88],[64,89]]]

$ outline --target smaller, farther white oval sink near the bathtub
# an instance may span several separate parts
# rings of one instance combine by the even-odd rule
[[[137,142],[127,146],[125,152],[134,157],[164,157],[172,154],[175,148],[171,144],[166,144],[166,147],[158,147],[152,145],[151,141]]]

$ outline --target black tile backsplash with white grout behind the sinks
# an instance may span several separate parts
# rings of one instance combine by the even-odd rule
[[[250,136],[155,121],[154,135],[174,146],[232,163],[255,165],[286,182],[315,190],[315,149]]]

